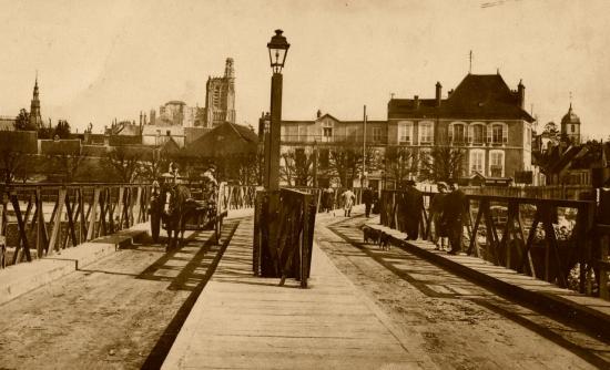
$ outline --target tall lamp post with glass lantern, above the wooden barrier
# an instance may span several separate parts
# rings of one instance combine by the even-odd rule
[[[291,44],[282,35],[282,30],[275,30],[275,35],[267,43],[270,63],[273,71],[271,78],[271,125],[270,148],[265,151],[265,188],[267,191],[279,189],[279,141],[282,125],[282,69],[286,62],[286,55]]]

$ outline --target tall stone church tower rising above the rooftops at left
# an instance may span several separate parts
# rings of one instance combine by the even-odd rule
[[[207,78],[205,84],[204,126],[215,127],[225,122],[235,123],[235,69],[227,58],[224,76]]]

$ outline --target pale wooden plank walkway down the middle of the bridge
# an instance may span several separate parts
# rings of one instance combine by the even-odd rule
[[[317,247],[308,289],[254,277],[252,229],[238,226],[163,369],[428,367]]]

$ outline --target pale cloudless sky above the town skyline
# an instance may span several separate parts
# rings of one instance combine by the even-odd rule
[[[284,30],[283,119],[387,117],[390,94],[434,97],[469,69],[499,70],[541,125],[571,102],[588,137],[610,125],[610,1],[0,0],[0,115],[29,110],[38,71],[44,120],[101,132],[170,100],[204,106],[209,75],[235,61],[237,123],[268,111],[266,43]]]

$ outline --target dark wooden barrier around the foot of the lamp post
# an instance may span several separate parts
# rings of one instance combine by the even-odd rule
[[[307,287],[316,203],[312,194],[294,189],[256,193],[253,271],[257,276],[295,277]]]

